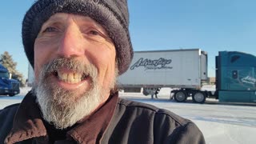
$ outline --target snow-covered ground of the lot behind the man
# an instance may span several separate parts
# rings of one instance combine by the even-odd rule
[[[206,86],[207,90],[214,90]],[[14,97],[0,96],[0,109],[21,102],[30,88],[22,88],[21,94]],[[149,103],[189,118],[202,130],[209,144],[254,144],[256,143],[256,105],[243,106],[220,104],[217,100],[206,99],[205,104],[178,103],[170,100],[170,88],[162,88],[158,99],[151,99],[142,93],[120,93],[120,97]]]

